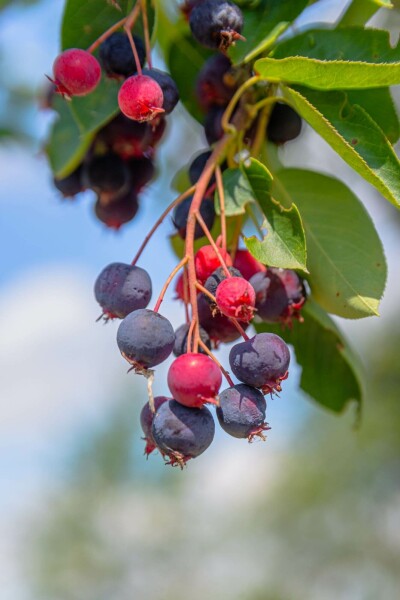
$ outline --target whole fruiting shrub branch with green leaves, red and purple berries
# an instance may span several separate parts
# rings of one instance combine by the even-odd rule
[[[280,392],[288,377],[287,344],[302,368],[300,385],[316,402],[335,412],[362,402],[363,374],[329,313],[378,314],[382,244],[352,191],[317,171],[285,168],[277,147],[307,121],[398,208],[392,145],[399,122],[390,86],[400,83],[400,47],[387,31],[365,28],[380,7],[390,8],[388,0],[353,0],[334,25],[299,32],[290,26],[308,4],[65,4],[47,94],[58,113],[47,154],[65,197],[90,188],[106,226],[131,221],[179,99],[208,142],[175,177],[179,195],[154,216],[132,262],[106,266],[95,284],[104,319],[122,319],[123,357],[148,378],[146,454],[158,448],[172,465],[182,467],[211,444],[207,403],[217,406],[227,434],[264,439],[264,396]],[[155,44],[168,72],[153,68]],[[138,263],[168,215],[177,266],[149,308],[151,279]],[[254,235],[244,235],[246,224]],[[176,332],[159,312],[175,277],[184,321]],[[249,336],[250,323],[256,333]],[[215,356],[232,341],[236,385]],[[172,352],[171,397],[154,399],[152,368]],[[223,377],[228,387],[221,390]]]

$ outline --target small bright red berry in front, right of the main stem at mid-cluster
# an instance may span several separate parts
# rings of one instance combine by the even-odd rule
[[[217,287],[217,306],[223,315],[240,321],[253,318],[256,293],[253,286],[243,277],[228,277]]]

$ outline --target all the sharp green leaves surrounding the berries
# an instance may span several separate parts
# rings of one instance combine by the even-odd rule
[[[119,2],[122,14],[131,4]],[[200,120],[195,81],[209,52],[193,41],[187,23],[166,4],[160,0],[149,6],[152,37],[184,106]],[[292,30],[283,39],[281,34],[310,4],[308,0],[238,4],[246,41],[230,49],[233,64],[249,68],[266,90],[274,86],[274,93],[399,208],[400,162],[393,144],[400,131],[389,88],[400,83],[400,45],[390,45],[388,32],[364,27],[380,7],[390,8],[391,3],[353,0],[334,26]],[[62,47],[87,48],[118,18],[105,0],[84,5],[68,0]],[[58,99],[60,119],[48,145],[58,177],[73,170],[95,132],[116,114],[116,96],[115,82],[104,80],[93,94],[69,105]],[[248,237],[247,248],[261,262],[296,269],[307,278],[312,300],[304,323],[279,335],[295,349],[304,391],[340,412],[350,400],[361,402],[362,375],[328,313],[350,319],[378,315],[386,282],[382,244],[363,204],[342,182],[314,171],[272,165],[266,152],[262,157],[224,171],[226,214],[229,219],[244,219],[253,206],[262,215],[266,233],[261,239]],[[175,248],[179,251],[179,244]],[[255,326],[258,331],[265,328]]]

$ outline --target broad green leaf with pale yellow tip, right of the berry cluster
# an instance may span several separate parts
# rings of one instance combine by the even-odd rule
[[[315,300],[348,319],[378,315],[386,284],[381,241],[364,206],[343,183],[312,171],[283,169],[273,194],[298,206]]]

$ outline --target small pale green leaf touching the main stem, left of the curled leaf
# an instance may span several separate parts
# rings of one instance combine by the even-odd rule
[[[255,202],[253,189],[246,175],[240,169],[226,169],[222,174],[227,217],[243,215],[246,204]],[[220,214],[218,191],[215,193],[215,210]]]

